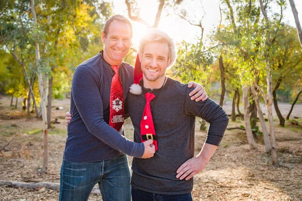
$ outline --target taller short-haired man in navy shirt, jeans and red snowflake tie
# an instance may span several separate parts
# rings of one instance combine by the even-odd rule
[[[129,20],[111,17],[102,33],[104,50],[74,71],[59,200],[87,200],[97,183],[104,200],[130,200],[125,154],[149,158],[155,153],[152,140],[134,143],[124,137],[124,102],[133,82],[133,67],[123,58],[131,38]],[[197,96],[202,92],[203,88]]]

